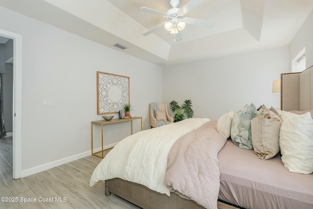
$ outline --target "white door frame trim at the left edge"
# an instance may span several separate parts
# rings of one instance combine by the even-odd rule
[[[13,179],[22,178],[22,35],[0,29],[13,39]]]

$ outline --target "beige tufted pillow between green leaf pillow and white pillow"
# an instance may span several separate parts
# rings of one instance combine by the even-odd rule
[[[279,152],[279,131],[282,120],[263,106],[259,115],[251,120],[252,145],[255,154],[268,160]]]

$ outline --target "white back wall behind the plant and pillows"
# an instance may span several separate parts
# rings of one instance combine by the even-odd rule
[[[280,107],[280,94],[271,93],[272,82],[288,72],[288,57],[284,46],[163,67],[163,102],[191,99],[194,117],[216,120],[250,103]]]

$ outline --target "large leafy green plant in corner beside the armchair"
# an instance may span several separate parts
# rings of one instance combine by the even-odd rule
[[[183,119],[192,118],[194,116],[194,111],[192,110],[191,99],[185,100],[185,102],[179,106],[177,101],[170,102],[170,108],[173,113],[176,112],[174,116],[174,122],[179,122]]]

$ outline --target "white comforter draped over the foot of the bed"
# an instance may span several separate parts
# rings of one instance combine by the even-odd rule
[[[171,147],[181,136],[198,129],[209,120],[185,119],[141,131],[121,140],[95,168],[90,186],[100,180],[120,178],[170,196],[163,181]]]

